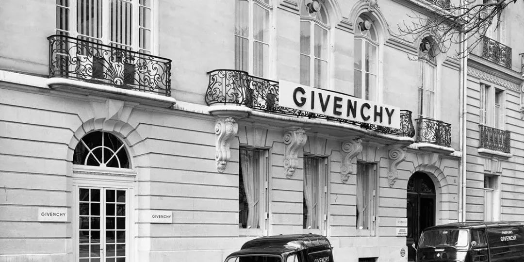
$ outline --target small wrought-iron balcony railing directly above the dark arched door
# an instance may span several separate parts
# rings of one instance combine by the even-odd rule
[[[451,124],[430,119],[418,118],[417,142],[451,147]]]

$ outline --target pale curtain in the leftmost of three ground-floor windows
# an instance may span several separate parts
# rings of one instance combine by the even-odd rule
[[[260,227],[260,177],[258,172],[257,152],[240,150],[240,163],[244,179],[244,191],[248,204],[247,228]]]

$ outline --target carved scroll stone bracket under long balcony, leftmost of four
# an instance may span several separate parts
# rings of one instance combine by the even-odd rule
[[[238,132],[238,124],[233,117],[219,118],[215,124],[216,134],[216,170],[224,172],[227,161],[231,158],[231,139]]]

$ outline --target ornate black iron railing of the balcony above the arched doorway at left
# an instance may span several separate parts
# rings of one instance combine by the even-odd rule
[[[68,36],[48,39],[49,77],[171,95],[169,59]]]

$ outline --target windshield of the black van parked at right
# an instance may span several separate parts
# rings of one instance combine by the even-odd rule
[[[438,229],[422,233],[420,247],[465,247],[468,245],[467,230]]]

